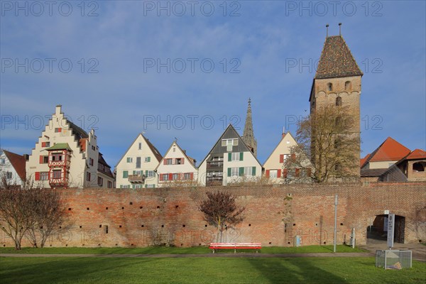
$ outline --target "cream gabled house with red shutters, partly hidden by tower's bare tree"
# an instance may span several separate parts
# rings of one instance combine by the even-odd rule
[[[291,148],[297,146],[295,138],[290,132],[283,133],[282,138],[278,145],[273,149],[271,155],[266,159],[263,164],[265,170],[265,177],[273,184],[283,182],[291,182],[295,178],[300,180],[305,175],[310,175],[311,163],[306,158],[304,161],[305,168],[285,168],[285,160],[292,158]]]

